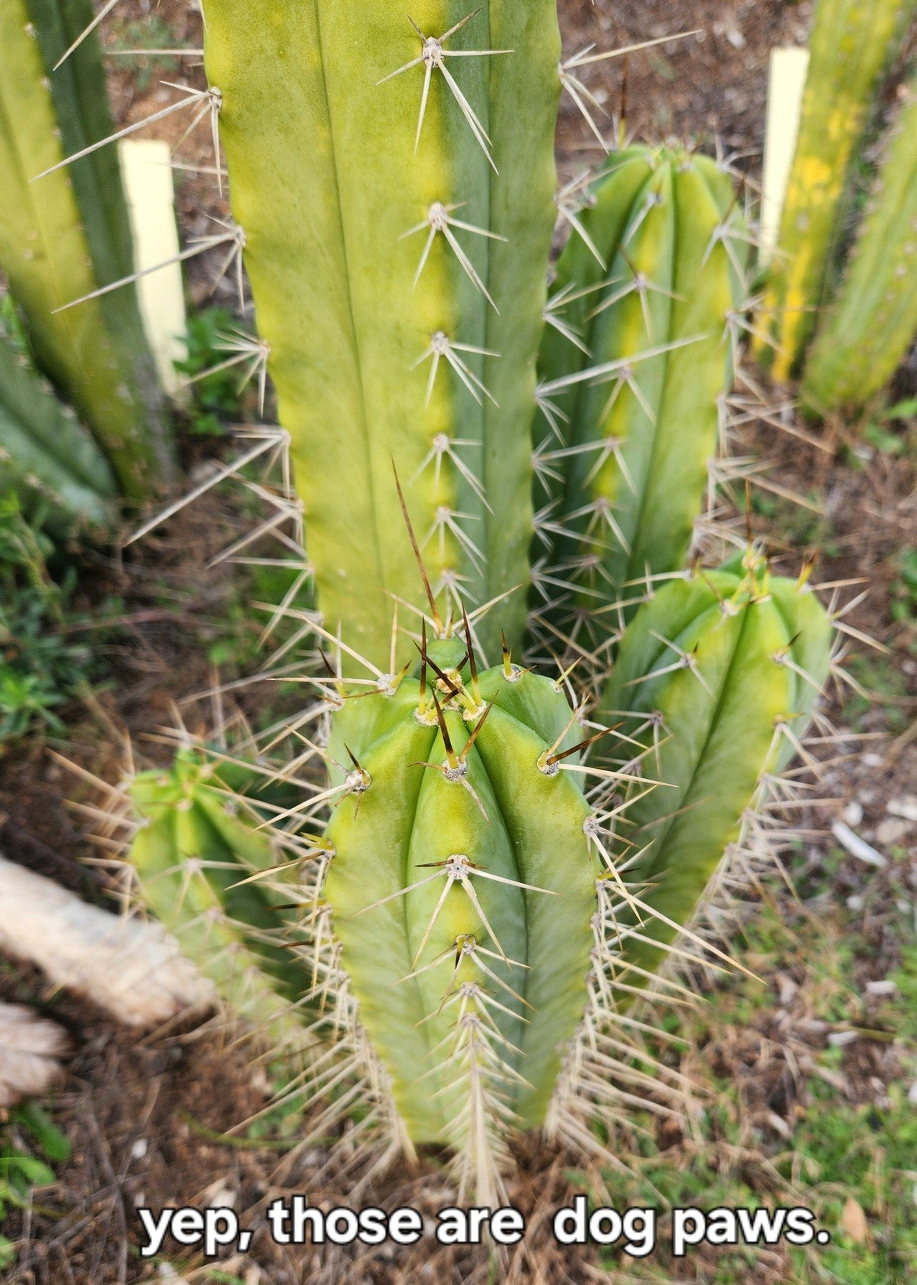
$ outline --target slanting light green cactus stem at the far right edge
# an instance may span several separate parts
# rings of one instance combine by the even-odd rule
[[[864,406],[917,334],[917,76],[877,175],[872,204],[803,379],[819,411]]]

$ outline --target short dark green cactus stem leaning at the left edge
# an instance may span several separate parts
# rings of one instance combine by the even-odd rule
[[[118,488],[104,455],[28,359],[0,330],[0,493],[41,504],[53,535],[107,528]]]

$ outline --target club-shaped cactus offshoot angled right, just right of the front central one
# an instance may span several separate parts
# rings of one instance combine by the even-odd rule
[[[628,878],[658,917],[625,943],[619,980],[642,986],[655,971],[768,777],[794,757],[832,634],[804,578],[772,577],[754,551],[736,571],[669,581],[625,630],[598,717],[643,747],[609,750],[616,766],[638,758],[663,785],[625,813]]]

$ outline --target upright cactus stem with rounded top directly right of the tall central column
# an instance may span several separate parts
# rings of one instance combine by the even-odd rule
[[[537,529],[548,583],[572,582],[568,616],[586,616],[601,644],[618,618],[600,604],[678,569],[691,545],[732,383],[746,234],[728,175],[681,148],[613,155],[579,218],[588,242],[560,257],[561,325],[539,359],[550,499]]]

